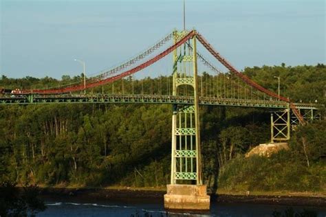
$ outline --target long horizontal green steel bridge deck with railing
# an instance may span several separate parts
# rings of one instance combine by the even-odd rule
[[[115,104],[193,104],[192,96],[175,95],[8,95],[0,96],[0,105],[8,104],[75,104],[75,103],[115,103]],[[287,109],[287,102],[276,100],[251,100],[218,97],[199,97],[200,105],[238,106],[268,109]],[[315,104],[295,104],[297,109],[316,110]]]

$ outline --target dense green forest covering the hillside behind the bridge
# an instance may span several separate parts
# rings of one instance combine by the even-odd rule
[[[201,106],[204,183],[214,193],[326,193],[326,66],[246,67],[246,76],[294,102],[317,102],[320,120],[297,126],[290,150],[270,158],[244,155],[270,141],[270,110]],[[10,76],[10,75],[9,75]],[[210,75],[204,73],[203,76]],[[83,75],[8,78],[0,87],[47,88],[79,82]],[[160,80],[130,78],[91,91],[169,92]],[[123,83],[124,82],[124,83]],[[124,86],[123,86],[124,85]],[[114,90],[113,90],[114,88]],[[123,88],[123,89],[122,89]],[[162,92],[161,92],[162,93]],[[47,187],[157,187],[170,181],[171,105],[0,105],[0,183]]]

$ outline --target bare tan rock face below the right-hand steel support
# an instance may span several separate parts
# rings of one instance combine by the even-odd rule
[[[252,155],[260,155],[265,157],[270,157],[272,154],[279,152],[280,150],[289,150],[289,146],[286,142],[281,143],[270,143],[270,144],[260,144],[250,150],[245,156],[250,157]]]

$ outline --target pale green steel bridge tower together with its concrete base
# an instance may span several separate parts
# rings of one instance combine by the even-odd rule
[[[174,43],[186,34],[175,31]],[[167,185],[164,207],[209,209],[210,196],[202,183],[196,36],[173,54],[173,95],[193,95],[194,101],[191,106],[173,105],[171,184]]]

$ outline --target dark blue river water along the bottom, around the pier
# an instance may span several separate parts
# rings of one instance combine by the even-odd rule
[[[166,212],[163,201],[160,198],[149,200],[131,198],[117,201],[99,201],[94,199],[67,200],[46,199],[47,209],[36,216],[273,216],[273,212],[284,214],[288,206],[281,205],[257,205],[257,204],[230,204],[211,202],[210,212]],[[325,217],[326,208],[323,207],[293,207],[294,212],[302,213],[304,209],[316,212],[316,216]]]

